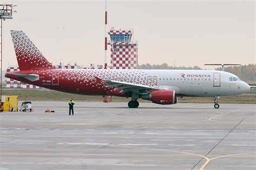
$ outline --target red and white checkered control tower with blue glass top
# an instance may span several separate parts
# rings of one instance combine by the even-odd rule
[[[112,69],[137,69],[138,68],[138,42],[133,42],[132,30],[116,30],[114,27],[109,32],[111,68]]]

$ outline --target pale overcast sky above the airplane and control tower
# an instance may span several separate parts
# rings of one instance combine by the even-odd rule
[[[55,65],[104,65],[104,1],[0,2],[18,5],[3,22],[3,68],[17,65],[10,30],[23,30]],[[140,65],[255,63],[255,1],[108,1],[107,8],[109,28],[133,28]]]

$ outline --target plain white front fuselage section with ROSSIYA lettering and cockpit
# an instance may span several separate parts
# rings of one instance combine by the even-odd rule
[[[158,86],[175,90],[176,94],[181,95],[231,96],[243,94],[250,90],[247,83],[228,72],[215,70],[146,70],[146,73],[152,77],[152,81],[157,80]]]

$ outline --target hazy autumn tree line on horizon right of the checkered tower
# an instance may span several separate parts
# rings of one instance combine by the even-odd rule
[[[168,66],[167,63],[161,65],[139,65],[139,69],[202,69],[198,66],[184,67],[184,66]],[[221,70],[221,67],[215,68],[215,70]],[[237,75],[243,81],[256,81],[256,64],[242,65],[242,66],[228,66],[224,67],[225,72],[233,73]]]

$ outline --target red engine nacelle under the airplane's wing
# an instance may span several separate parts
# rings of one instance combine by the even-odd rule
[[[154,90],[149,95],[143,95],[142,99],[157,104],[176,104],[178,102],[174,90]]]

